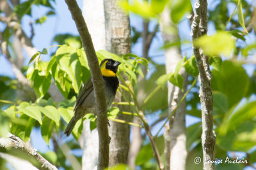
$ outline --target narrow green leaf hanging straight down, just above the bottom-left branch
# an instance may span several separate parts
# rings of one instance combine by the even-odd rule
[[[49,145],[53,128],[54,128],[54,122],[50,118],[44,117],[43,124],[41,125],[41,134],[42,134],[42,137],[44,138],[44,141],[47,143],[47,145]]]

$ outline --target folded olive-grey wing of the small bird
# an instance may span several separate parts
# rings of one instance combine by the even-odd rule
[[[76,106],[74,108],[74,111],[76,111],[77,107],[83,103],[83,101],[86,99],[88,94],[92,92],[92,90],[93,90],[92,78],[89,78],[84,84],[83,89],[81,90],[81,92],[79,93],[79,96],[76,99]]]

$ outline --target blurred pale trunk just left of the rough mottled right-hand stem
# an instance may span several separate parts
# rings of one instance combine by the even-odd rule
[[[174,25],[170,18],[170,10],[167,8],[163,11],[161,15],[161,32],[163,35],[164,43],[168,41],[179,41],[179,32],[177,30],[177,25]],[[177,32],[174,32],[173,35],[164,33],[166,27],[172,26]],[[166,59],[166,73],[174,72],[175,67],[179,60],[182,59],[180,48],[173,46],[168,48],[165,51]],[[183,92],[179,87],[175,87],[172,83],[168,82],[168,105],[169,105],[169,114],[172,113],[172,110],[176,108],[182,96],[186,92],[187,78],[188,75],[184,71],[184,68],[180,70],[180,74],[183,76]],[[170,120],[170,169],[185,169],[186,166],[186,126],[185,126],[185,115],[186,115],[186,103],[183,102],[175,113],[175,117]],[[168,157],[168,155],[167,155]]]

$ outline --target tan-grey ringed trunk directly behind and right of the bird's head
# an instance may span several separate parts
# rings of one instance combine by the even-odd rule
[[[117,55],[131,53],[131,28],[129,17],[117,6],[115,0],[104,0],[106,21],[106,50]],[[124,77],[125,78],[125,77]],[[119,97],[118,101],[122,101]],[[129,111],[129,106],[119,106],[120,111]],[[131,117],[119,113],[117,119],[130,122]],[[129,152],[130,126],[118,122],[110,122],[111,137],[109,149],[109,166],[127,164]]]

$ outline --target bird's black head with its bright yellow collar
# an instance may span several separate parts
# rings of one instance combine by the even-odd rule
[[[104,59],[100,63],[100,71],[102,76],[116,76],[118,66],[121,62],[113,59]]]

